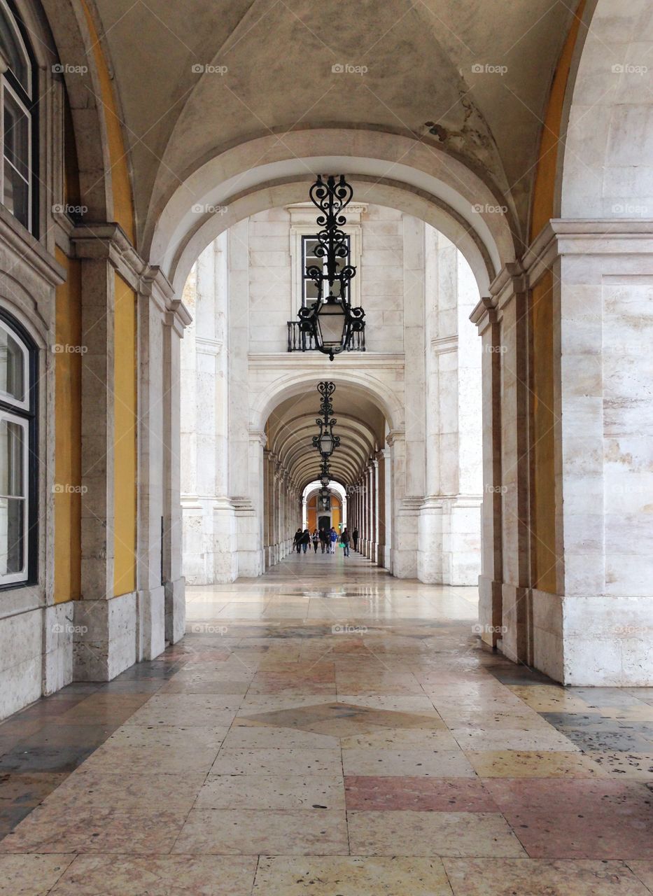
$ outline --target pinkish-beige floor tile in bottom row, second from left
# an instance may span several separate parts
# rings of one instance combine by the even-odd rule
[[[253,857],[79,856],[52,896],[250,896],[255,871]]]

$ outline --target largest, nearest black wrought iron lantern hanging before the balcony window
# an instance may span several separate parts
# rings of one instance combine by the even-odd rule
[[[309,191],[311,202],[320,211],[317,225],[321,229],[314,254],[322,264],[306,267],[306,277],[313,280],[317,298],[312,306],[300,308],[298,325],[303,337],[331,361],[352,348],[355,333],[363,336],[365,332],[365,311],[351,306],[349,287],[356,268],[348,263],[348,238],[342,230],[347,223],[343,211],[353,194],[344,175],[338,180],[330,175],[326,181],[318,175]],[[357,342],[358,347],[365,345],[364,338]]]

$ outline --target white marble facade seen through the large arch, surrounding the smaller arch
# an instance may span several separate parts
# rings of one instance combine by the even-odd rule
[[[381,472],[370,467],[374,501],[381,495],[382,507],[365,522],[365,553],[400,577],[473,584],[480,527],[480,340],[468,314],[477,300],[475,281],[455,246],[443,238],[438,243],[424,222],[374,205],[363,210],[357,276],[368,350],[358,358],[341,356],[329,373],[337,366],[345,383],[359,381],[382,406],[395,409]],[[185,337],[182,385],[189,582],[255,576],[288,549],[288,532],[281,533],[270,513],[270,495],[279,495],[279,482],[292,506],[298,495],[283,471],[274,471],[276,458],[263,461],[261,409],[288,398],[302,378],[314,383],[325,373],[323,358],[286,350],[287,322],[296,318],[293,220],[288,210],[272,209],[241,221],[205,250],[186,285],[195,317]],[[442,386],[430,405],[426,381],[438,353],[425,346],[427,246],[434,257],[442,252],[450,258],[442,263],[437,295],[429,297],[429,317],[437,317],[438,333],[460,342],[451,370],[449,359],[442,361]],[[451,277],[444,273],[447,264]],[[428,464],[446,470],[446,481],[436,478],[430,491]],[[436,540],[429,528],[433,501],[440,502]]]

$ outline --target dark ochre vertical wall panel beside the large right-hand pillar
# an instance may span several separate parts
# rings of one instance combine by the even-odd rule
[[[530,296],[530,547],[534,588],[556,592],[553,274]]]

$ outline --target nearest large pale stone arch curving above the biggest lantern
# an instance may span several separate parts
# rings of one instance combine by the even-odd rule
[[[383,132],[319,129],[262,137],[195,170],[159,210],[146,243],[177,291],[213,239],[256,211],[305,200],[307,179],[342,170],[357,198],[427,220],[460,247],[481,292],[515,258],[511,213],[442,149]],[[216,213],[217,210],[217,213]]]

